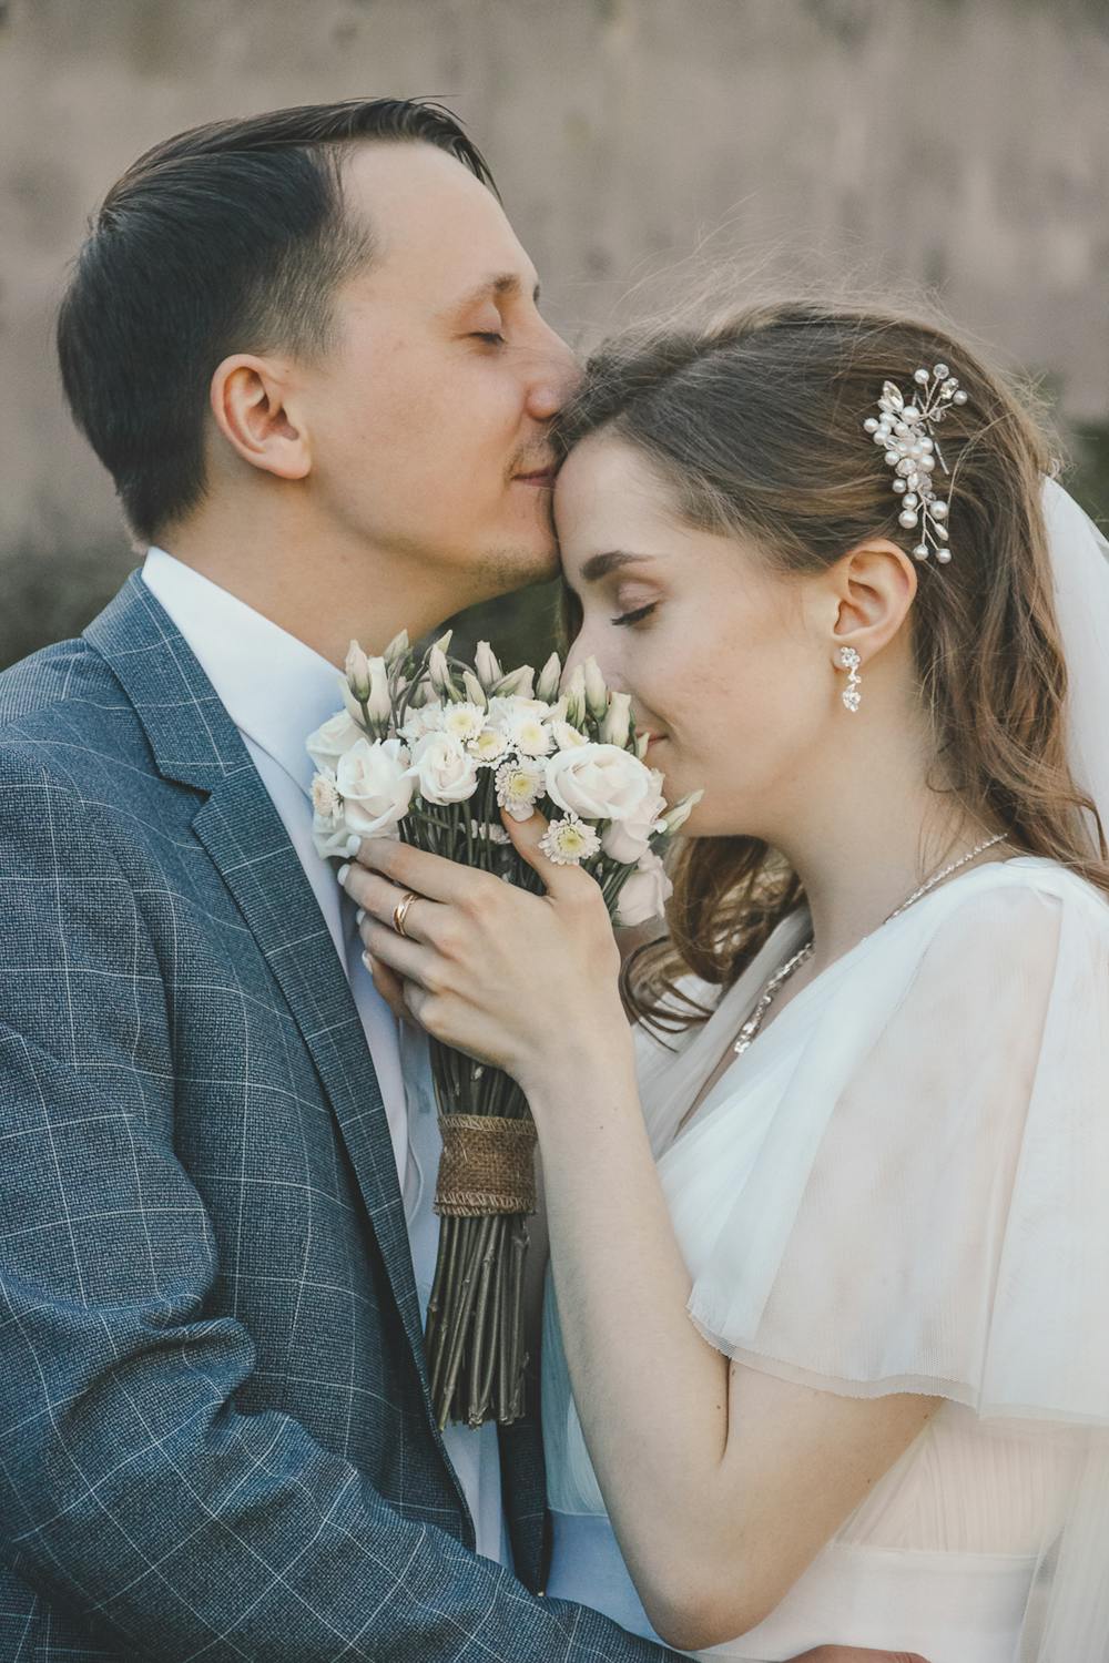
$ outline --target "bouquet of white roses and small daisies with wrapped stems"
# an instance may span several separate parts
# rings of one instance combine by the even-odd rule
[[[369,659],[352,642],[344,708],[308,740],[314,840],[347,860],[362,838],[399,836],[532,891],[500,812],[549,818],[542,850],[582,865],[617,925],[662,913],[670,893],[660,850],[700,797],[667,807],[643,762],[627,693],[597,664],[562,685],[552,654],[539,677],[505,674],[487,642],[474,664],[449,659],[451,635],[422,654],[407,634]],[[522,1334],[527,1216],[535,1211],[535,1129],[500,1069],[431,1041],[442,1131],[436,1212],[442,1217],[427,1309],[427,1367],[439,1425],[524,1414]]]

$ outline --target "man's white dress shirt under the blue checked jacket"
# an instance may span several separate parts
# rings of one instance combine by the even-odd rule
[[[143,582],[180,629],[243,735],[343,961],[389,1121],[412,1272],[426,1317],[439,1249],[439,1219],[432,1201],[441,1152],[426,1049],[399,1031],[392,1011],[374,988],[362,965],[354,908],[313,845],[314,770],[304,740],[341,707],[339,670],[165,549],[146,554]],[[477,1552],[509,1565],[495,1425],[489,1422],[477,1430],[449,1425],[444,1442],[474,1515]]]

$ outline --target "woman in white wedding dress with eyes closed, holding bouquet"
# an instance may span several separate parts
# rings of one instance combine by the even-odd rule
[[[384,841],[346,878],[381,989],[539,1128],[547,1591],[728,1658],[1096,1663],[1097,534],[1014,392],[893,313],[617,343],[564,442],[574,659],[705,790],[633,1028],[540,825],[545,898]]]

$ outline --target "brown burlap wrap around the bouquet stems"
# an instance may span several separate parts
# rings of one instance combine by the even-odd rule
[[[479,1219],[535,1211],[535,1126],[499,1114],[441,1114],[436,1212]]]

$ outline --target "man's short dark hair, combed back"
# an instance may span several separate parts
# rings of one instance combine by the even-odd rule
[[[141,539],[203,496],[219,361],[328,348],[334,291],[374,253],[343,205],[341,163],[362,140],[436,145],[495,193],[449,110],[371,98],[190,128],[140,156],[91,221],[58,314],[62,381]]]

